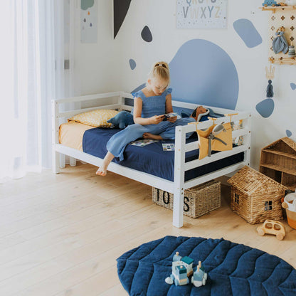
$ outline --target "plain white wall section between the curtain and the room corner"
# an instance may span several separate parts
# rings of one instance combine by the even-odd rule
[[[82,95],[120,90],[122,59],[113,39],[113,1],[98,0],[97,4],[97,43],[80,43],[80,32],[77,38],[75,69]]]

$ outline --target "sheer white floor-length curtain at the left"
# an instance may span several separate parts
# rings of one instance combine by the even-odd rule
[[[3,2],[0,181],[51,167],[51,100],[80,93],[74,65],[78,1]]]

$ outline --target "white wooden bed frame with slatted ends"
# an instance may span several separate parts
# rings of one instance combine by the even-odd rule
[[[53,100],[52,102],[52,115],[53,115],[53,172],[58,173],[60,167],[65,166],[65,155],[70,157],[70,164],[75,165],[76,159],[80,159],[83,162],[93,164],[95,166],[100,166],[102,164],[102,159],[99,157],[94,157],[93,155],[86,154],[77,149],[69,148],[58,142],[58,133],[59,125],[63,122],[66,122],[67,118],[72,117],[73,115],[79,114],[81,112],[86,112],[94,109],[116,109],[116,110],[132,110],[132,106],[125,104],[125,98],[132,99],[132,95],[124,92],[115,92],[115,93],[102,93],[97,95],[85,95],[81,97],[68,97],[60,100]],[[106,100],[107,99],[107,100]],[[105,102],[112,100],[115,101],[112,105],[102,105]],[[85,103],[95,102],[96,107],[81,107]],[[98,103],[97,103],[98,102]],[[65,106],[69,105],[68,103],[75,103],[72,105],[79,105],[75,110],[70,111],[61,111],[65,110]],[[87,104],[86,104],[87,105]],[[173,106],[182,107],[194,110],[197,105],[179,102],[173,100]],[[211,106],[203,106],[211,107]],[[234,110],[221,109],[216,107],[211,107],[211,109],[219,114],[230,114],[238,113],[234,115],[231,121],[242,120],[243,128],[233,131],[233,138],[243,136],[243,144],[234,147],[230,151],[218,152],[211,155],[211,157],[206,157],[204,159],[196,159],[191,162],[185,162],[185,153],[191,150],[196,149],[199,144],[196,140],[186,144],[186,132],[192,132],[196,130],[196,125],[187,125],[176,127],[176,139],[175,139],[175,155],[174,155],[174,181],[168,181],[166,179],[153,176],[151,174],[144,173],[142,171],[137,171],[134,169],[129,169],[120,164],[115,164],[113,162],[108,166],[109,171],[113,171],[116,174],[126,176],[127,178],[134,179],[136,181],[142,182],[149,186],[154,186],[164,191],[168,191],[174,194],[174,209],[173,209],[173,225],[176,227],[183,226],[183,205],[184,205],[184,190],[189,189],[193,186],[202,184],[211,179],[215,179],[219,176],[226,174],[231,174],[238,169],[241,169],[245,165],[250,164],[250,112],[238,112]],[[221,122],[229,122],[231,117],[219,117],[216,120],[216,124]],[[198,129],[206,129],[213,124],[211,120],[206,122],[200,122],[197,125]],[[191,179],[190,181],[184,181],[184,173],[189,169],[193,169],[203,164],[208,164],[210,162],[215,162],[218,159],[223,159],[234,154],[244,152],[243,162],[227,166],[223,169],[218,169],[213,171],[210,174],[205,174],[199,176],[196,179]],[[95,174],[95,171],[94,171]],[[98,178],[100,178],[98,176]]]

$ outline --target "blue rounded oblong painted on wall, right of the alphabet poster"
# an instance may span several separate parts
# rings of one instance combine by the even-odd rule
[[[242,38],[248,48],[253,48],[262,43],[262,38],[257,29],[251,21],[246,18],[240,18],[233,23],[233,28],[238,33],[238,36]]]

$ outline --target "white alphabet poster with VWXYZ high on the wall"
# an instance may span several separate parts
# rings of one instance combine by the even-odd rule
[[[226,28],[228,0],[176,0],[177,28]]]

